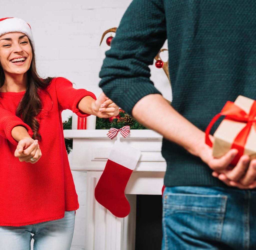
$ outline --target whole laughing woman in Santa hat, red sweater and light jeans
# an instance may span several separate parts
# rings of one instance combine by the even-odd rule
[[[1,250],[30,249],[31,233],[34,250],[70,249],[79,204],[61,112],[119,113],[104,93],[95,99],[63,77],[40,78],[30,26],[0,19],[0,157],[6,159],[0,162]]]

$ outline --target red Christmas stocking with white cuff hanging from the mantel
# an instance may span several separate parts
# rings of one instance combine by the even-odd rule
[[[140,155],[139,150],[116,141],[95,188],[95,199],[117,217],[123,218],[130,213],[124,189]]]

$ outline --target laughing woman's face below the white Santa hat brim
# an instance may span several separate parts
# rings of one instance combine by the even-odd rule
[[[32,60],[32,48],[28,37],[20,32],[0,36],[0,63],[8,74],[24,74]]]

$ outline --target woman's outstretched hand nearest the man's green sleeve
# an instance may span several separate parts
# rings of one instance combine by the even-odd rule
[[[119,114],[119,107],[113,103],[103,92],[99,98],[92,103],[92,110],[100,118],[109,118]]]

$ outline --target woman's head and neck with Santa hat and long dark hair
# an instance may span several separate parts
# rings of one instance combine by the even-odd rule
[[[30,26],[19,18],[0,19],[0,92],[22,92],[16,115],[22,116],[41,139],[36,116],[41,108],[37,88],[45,88],[52,78],[41,79],[36,71],[34,38]],[[15,77],[13,77],[15,76]],[[29,83],[29,84],[27,84]]]

